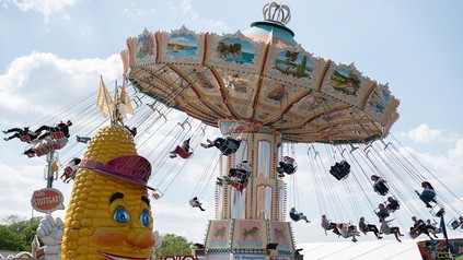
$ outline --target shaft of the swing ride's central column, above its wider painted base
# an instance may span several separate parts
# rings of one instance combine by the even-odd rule
[[[276,172],[280,134],[255,123],[228,120],[220,122],[220,130],[224,137],[242,139],[236,153],[222,155],[220,174],[228,175],[243,161],[251,164],[252,174],[243,190],[238,185],[223,187],[223,214],[217,218],[285,221],[285,182]]]

